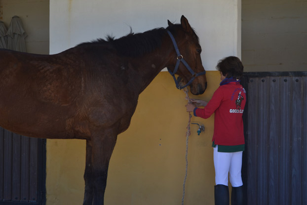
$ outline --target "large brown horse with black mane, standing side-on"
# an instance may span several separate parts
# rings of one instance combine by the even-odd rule
[[[83,205],[103,205],[116,138],[128,128],[139,94],[165,67],[191,83],[192,94],[202,94],[207,82],[200,52],[184,16],[166,29],[86,42],[54,55],[1,49],[0,126],[30,137],[85,139]]]

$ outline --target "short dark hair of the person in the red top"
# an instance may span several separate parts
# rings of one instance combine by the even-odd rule
[[[238,57],[229,56],[219,60],[216,69],[226,78],[240,79],[243,76],[243,64]]]

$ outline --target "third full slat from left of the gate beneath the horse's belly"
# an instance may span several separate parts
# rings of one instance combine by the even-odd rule
[[[30,159],[30,139],[21,137],[21,186],[20,197],[22,202],[29,201],[29,159]]]

